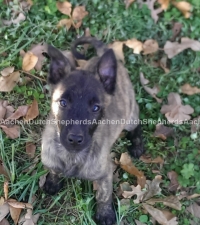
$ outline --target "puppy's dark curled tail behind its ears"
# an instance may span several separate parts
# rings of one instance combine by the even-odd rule
[[[95,48],[98,56],[102,56],[103,53],[107,50],[106,45],[102,41],[99,41],[94,37],[83,36],[76,39],[71,45],[72,54],[74,55],[76,59],[86,59],[85,55],[81,54],[80,52],[76,50],[78,45],[84,45],[84,44],[92,45]]]

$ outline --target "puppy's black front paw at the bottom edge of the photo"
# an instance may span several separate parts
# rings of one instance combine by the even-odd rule
[[[116,216],[112,205],[98,204],[95,218],[99,225],[113,225],[116,221]]]

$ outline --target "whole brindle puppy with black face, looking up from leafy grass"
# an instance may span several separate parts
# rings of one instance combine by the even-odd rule
[[[72,44],[75,58],[83,59],[76,47],[91,44],[97,55],[75,69],[58,49],[49,46],[51,58],[48,83],[52,101],[49,119],[42,137],[42,162],[49,169],[44,189],[55,194],[62,187],[60,174],[96,181],[97,224],[115,223],[112,205],[112,145],[123,130],[128,131],[130,154],[143,152],[140,125],[109,123],[67,123],[59,121],[138,120],[139,109],[127,70],[112,49],[92,37],[81,37]]]

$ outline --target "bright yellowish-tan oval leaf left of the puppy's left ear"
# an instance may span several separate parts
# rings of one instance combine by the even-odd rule
[[[28,72],[35,67],[37,62],[38,62],[38,57],[34,55],[32,52],[27,52],[23,58],[22,69]]]

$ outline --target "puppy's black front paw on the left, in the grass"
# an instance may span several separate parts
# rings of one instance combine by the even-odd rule
[[[64,180],[58,175],[49,173],[46,177],[46,182],[43,186],[43,190],[50,195],[54,195],[63,187]]]

